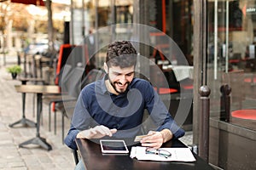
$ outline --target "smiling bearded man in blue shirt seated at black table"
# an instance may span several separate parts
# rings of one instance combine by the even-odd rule
[[[183,136],[150,82],[134,77],[136,64],[137,51],[131,42],[109,44],[104,63],[107,74],[82,89],[65,139],[67,146],[77,150],[76,138],[134,138],[141,132],[145,109],[157,128],[140,141],[142,146],[159,149],[166,141]]]

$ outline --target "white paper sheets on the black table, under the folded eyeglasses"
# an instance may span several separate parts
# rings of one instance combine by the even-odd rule
[[[142,161],[195,161],[189,148],[162,148],[172,153],[172,156],[166,158],[154,154],[146,154],[146,147],[133,146],[131,148],[131,158],[137,158]]]

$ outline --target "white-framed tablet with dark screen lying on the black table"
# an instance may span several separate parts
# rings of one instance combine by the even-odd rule
[[[129,153],[124,140],[100,140],[102,153],[125,154]]]

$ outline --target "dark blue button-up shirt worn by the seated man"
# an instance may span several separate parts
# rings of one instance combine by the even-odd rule
[[[116,128],[117,133],[113,133],[113,137],[134,138],[141,132],[145,109],[157,131],[170,129],[174,139],[184,135],[148,81],[134,78],[124,94],[115,95],[108,92],[105,78],[85,86],[79,94],[65,138],[68,147],[77,150],[75,139],[79,131],[97,125]]]

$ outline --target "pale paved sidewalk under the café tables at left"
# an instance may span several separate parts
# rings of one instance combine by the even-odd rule
[[[35,127],[9,127],[9,124],[20,120],[21,94],[15,91],[15,85],[20,81],[11,80],[11,76],[5,70],[9,65],[15,64],[12,57],[7,65],[3,66],[2,57],[0,65],[0,169],[73,169],[75,163],[73,154],[61,141],[61,114],[57,114],[57,134],[48,129],[48,105],[43,104],[43,125],[40,127],[40,135],[49,142],[52,150],[47,151],[37,145],[28,144],[27,148],[19,148],[19,144],[32,139],[36,135]],[[32,113],[33,94],[26,95],[26,118],[35,121]],[[52,115],[53,116],[53,115]],[[52,118],[53,120],[53,118]],[[53,123],[52,123],[53,126]],[[69,122],[66,119],[65,129],[67,133]]]

